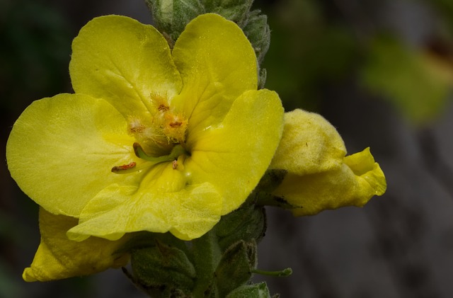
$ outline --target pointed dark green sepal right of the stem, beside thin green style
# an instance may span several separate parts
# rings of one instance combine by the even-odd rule
[[[226,249],[214,273],[218,296],[226,297],[231,291],[248,282],[256,264],[256,241],[241,240]]]

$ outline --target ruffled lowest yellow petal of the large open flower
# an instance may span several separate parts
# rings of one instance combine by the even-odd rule
[[[88,236],[119,239],[132,231],[171,231],[180,239],[202,236],[219,221],[222,197],[209,183],[185,185],[171,163],[154,167],[139,188],[111,185],[81,212],[68,232],[77,241]]]

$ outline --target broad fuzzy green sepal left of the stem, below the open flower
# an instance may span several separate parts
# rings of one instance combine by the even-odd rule
[[[131,265],[134,282],[156,297],[184,297],[195,285],[197,273],[185,251],[157,239],[155,246],[132,250]]]

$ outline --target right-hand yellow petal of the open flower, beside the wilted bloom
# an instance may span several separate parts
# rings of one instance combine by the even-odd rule
[[[222,214],[235,210],[268,168],[282,134],[277,93],[246,91],[217,127],[190,136],[185,162],[191,183],[209,182],[224,197]]]

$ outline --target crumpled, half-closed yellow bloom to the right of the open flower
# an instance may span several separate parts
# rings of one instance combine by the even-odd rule
[[[340,134],[321,115],[285,113],[282,140],[270,165],[287,171],[273,195],[284,198],[296,216],[365,205],[386,190],[386,180],[369,148],[346,155]]]

